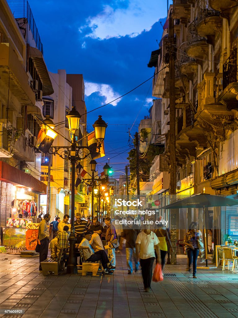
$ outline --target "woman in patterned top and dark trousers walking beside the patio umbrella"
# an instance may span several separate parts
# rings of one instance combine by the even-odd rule
[[[189,225],[189,230],[184,236],[184,245],[187,245],[188,253],[188,271],[190,272],[193,263],[193,278],[197,278],[197,257],[199,254],[198,240],[201,239],[202,233],[197,230],[196,222]]]

